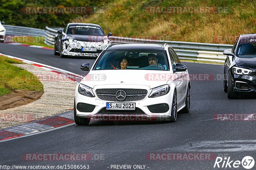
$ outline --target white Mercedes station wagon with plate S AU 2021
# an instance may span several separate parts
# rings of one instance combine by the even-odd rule
[[[89,73],[76,86],[78,125],[88,125],[92,118],[118,117],[175,122],[178,112],[189,112],[188,70],[168,44],[114,43],[100,53],[91,69],[89,63],[80,68]]]

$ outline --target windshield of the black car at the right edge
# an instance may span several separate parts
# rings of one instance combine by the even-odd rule
[[[238,55],[241,58],[250,58],[250,55],[256,55],[256,41],[255,39],[243,39],[240,41],[238,48],[237,48]],[[249,55],[249,56],[246,56]]]

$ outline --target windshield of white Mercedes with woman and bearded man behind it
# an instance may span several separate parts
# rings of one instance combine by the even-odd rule
[[[164,50],[107,50],[94,68],[167,70],[168,64]]]

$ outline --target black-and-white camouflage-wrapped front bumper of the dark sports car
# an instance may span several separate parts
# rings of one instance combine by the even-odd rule
[[[104,44],[103,42],[87,42],[77,41],[69,42],[68,40],[62,43],[62,55],[68,56],[87,56],[87,57],[98,57],[102,50],[105,49],[111,43]],[[82,51],[84,48],[96,48],[97,51]]]

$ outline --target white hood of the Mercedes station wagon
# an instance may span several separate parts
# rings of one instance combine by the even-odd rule
[[[92,70],[80,83],[93,89],[111,84],[143,85],[152,89],[166,84],[170,77],[170,71],[163,70]]]

